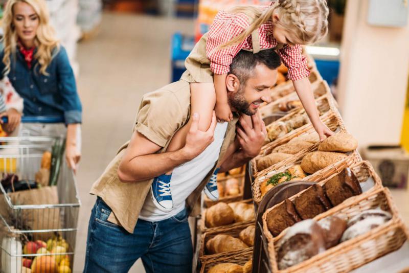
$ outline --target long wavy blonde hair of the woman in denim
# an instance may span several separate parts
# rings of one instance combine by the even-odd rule
[[[50,16],[47,9],[46,2],[44,0],[9,0],[6,5],[3,18],[4,37],[2,39],[4,43],[4,57],[3,63],[6,65],[3,73],[4,75],[10,72],[10,55],[15,59],[16,47],[17,47],[17,33],[13,25],[14,5],[18,2],[24,2],[33,7],[39,20],[36,36],[34,38],[34,44],[37,47],[37,52],[34,58],[40,65],[40,73],[48,75],[46,72],[47,66],[53,59],[53,51],[55,48],[59,48],[59,42],[55,38],[55,32],[50,25]],[[55,53],[55,52],[54,52]]]

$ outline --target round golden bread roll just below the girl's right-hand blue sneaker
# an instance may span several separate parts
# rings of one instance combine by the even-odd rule
[[[228,204],[219,202],[206,210],[206,226],[215,227],[234,222],[234,211]]]

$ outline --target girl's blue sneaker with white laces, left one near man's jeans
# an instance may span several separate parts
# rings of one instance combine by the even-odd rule
[[[173,209],[172,194],[170,192],[170,178],[172,174],[162,174],[153,179],[150,195],[156,208],[163,212],[170,212]]]

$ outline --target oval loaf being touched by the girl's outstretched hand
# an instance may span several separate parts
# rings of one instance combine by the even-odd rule
[[[318,147],[319,151],[350,152],[358,147],[358,142],[351,134],[339,132],[325,139]]]

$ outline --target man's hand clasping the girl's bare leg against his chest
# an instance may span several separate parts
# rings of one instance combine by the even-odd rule
[[[212,122],[209,129],[207,131],[200,131],[198,129],[199,114],[193,114],[192,124],[186,135],[186,144],[182,148],[188,158],[192,160],[214,141],[214,129],[216,128],[216,124],[216,113],[213,111]]]

